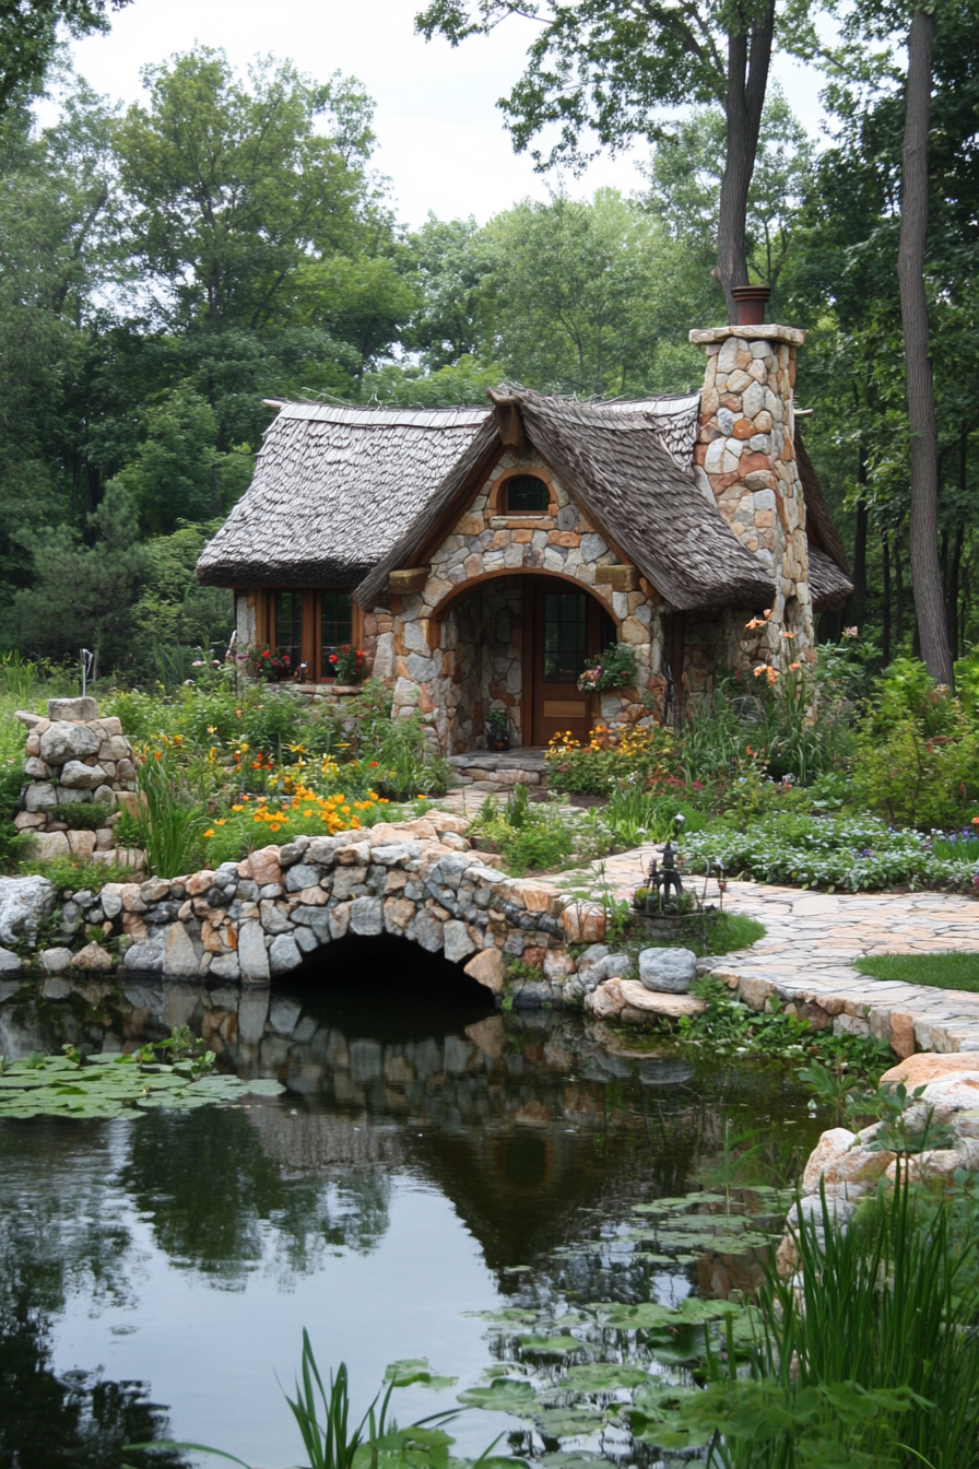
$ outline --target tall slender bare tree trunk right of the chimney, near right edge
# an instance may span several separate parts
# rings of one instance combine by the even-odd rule
[[[907,34],[907,100],[901,160],[901,245],[897,276],[904,325],[907,416],[911,430],[911,577],[922,657],[932,679],[953,682],[942,574],[938,561],[938,436],[929,357],[925,244],[928,239],[928,128],[935,16],[916,10]]]

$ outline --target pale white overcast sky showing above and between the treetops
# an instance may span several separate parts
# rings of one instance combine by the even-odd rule
[[[417,228],[433,210],[484,223],[527,194],[546,198],[558,179],[536,175],[527,156],[514,154],[496,107],[523,72],[534,22],[511,19],[452,50],[414,34],[420,7],[421,0],[134,0],[112,15],[109,35],[75,44],[75,69],[125,103],[142,94],[142,66],[198,41],[223,47],[238,68],[272,53],[317,81],[339,69],[363,81],[377,104],[374,163],[392,181],[399,222]],[[787,57],[776,57],[774,75],[816,137],[819,78]],[[564,184],[574,195],[602,185],[631,192],[641,185],[636,165],[646,156],[641,145],[602,157]]]

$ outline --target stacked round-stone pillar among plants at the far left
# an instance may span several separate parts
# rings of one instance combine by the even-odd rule
[[[116,845],[113,827],[123,809],[137,811],[137,768],[132,745],[117,718],[98,718],[95,699],[48,699],[47,718],[19,710],[26,724],[28,784],[15,817],[31,833],[32,856],[50,861],[114,862],[138,868],[144,853]],[[92,805],[104,812],[94,829],[72,829],[57,806]]]

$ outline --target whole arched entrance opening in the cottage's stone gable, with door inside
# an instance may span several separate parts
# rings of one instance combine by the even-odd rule
[[[433,617],[454,661],[454,751],[481,743],[490,710],[501,707],[514,746],[539,748],[564,732],[589,739],[597,699],[577,680],[616,638],[592,588],[559,573],[489,573],[458,586]]]

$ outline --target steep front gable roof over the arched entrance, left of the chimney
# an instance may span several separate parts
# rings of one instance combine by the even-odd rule
[[[741,546],[721,511],[707,504],[691,470],[663,448],[656,408],[644,401],[574,403],[525,389],[501,389],[493,398],[502,411],[520,414],[527,441],[671,607],[754,607],[771,601],[774,585],[766,570]],[[693,414],[687,407],[675,413],[696,422],[696,401]],[[393,570],[424,563],[455,501],[461,505],[471,494],[502,444],[495,414],[407,533],[357,588],[363,607],[383,598]]]

